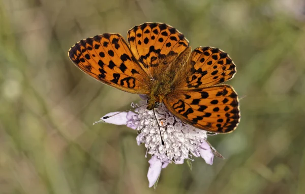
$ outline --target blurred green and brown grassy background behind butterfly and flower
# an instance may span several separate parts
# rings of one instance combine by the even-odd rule
[[[303,0],[0,1],[0,193],[305,193],[304,12]],[[208,138],[226,159],[171,164],[157,190],[136,131],[92,125],[140,98],[67,56],[147,21],[228,52],[242,97],[237,130]]]

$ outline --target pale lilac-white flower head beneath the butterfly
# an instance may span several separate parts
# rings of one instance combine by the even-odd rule
[[[145,157],[147,153],[151,155],[147,173],[149,187],[156,183],[161,169],[166,168],[169,163],[182,164],[185,159],[193,161],[192,156],[201,156],[207,164],[213,163],[215,150],[206,142],[206,131],[181,122],[164,104],[161,104],[155,109],[155,114],[165,143],[162,145],[153,110],[148,110],[141,104],[132,103],[131,106],[136,108],[135,113],[131,111],[108,113],[96,123],[104,121],[116,125],[127,125],[138,131],[137,144],[144,144],[147,148]],[[111,115],[114,116],[107,117]]]

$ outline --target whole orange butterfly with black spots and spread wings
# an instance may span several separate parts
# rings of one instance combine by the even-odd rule
[[[143,23],[127,33],[105,33],[77,42],[71,61],[103,84],[148,96],[147,109],[163,102],[181,121],[215,133],[233,131],[239,121],[234,89],[222,84],[236,73],[229,55],[214,47],[194,50],[174,27]]]

